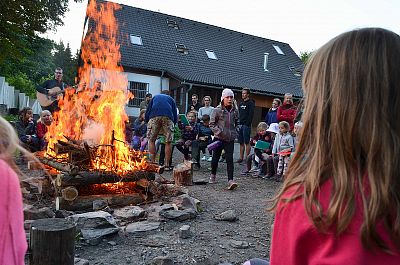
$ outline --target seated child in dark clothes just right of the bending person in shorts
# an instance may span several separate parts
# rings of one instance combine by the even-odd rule
[[[196,123],[197,113],[195,111],[189,111],[186,117],[189,121],[188,125],[183,124],[180,119],[178,121],[178,127],[181,130],[181,139],[176,142],[176,148],[183,154],[185,160],[190,160],[190,147],[192,147],[192,142],[197,138],[199,128]]]

